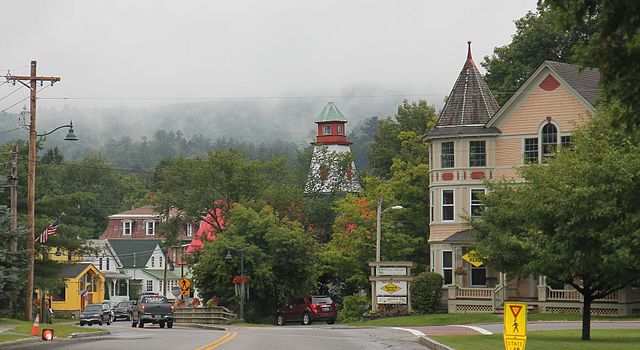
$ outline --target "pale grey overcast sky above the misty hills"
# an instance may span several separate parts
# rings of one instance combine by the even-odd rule
[[[0,69],[4,75],[36,59],[40,75],[62,77],[41,97],[89,98],[42,99],[42,107],[350,94],[420,96],[439,104],[464,63],[466,41],[473,41],[479,65],[510,42],[513,21],[535,5],[3,0]],[[0,97],[12,89],[0,86]],[[23,90],[0,101],[0,110],[26,96]]]

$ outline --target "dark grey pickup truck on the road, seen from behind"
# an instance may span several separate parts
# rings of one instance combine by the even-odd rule
[[[131,327],[143,328],[146,323],[173,328],[173,304],[162,295],[143,295],[131,312]]]

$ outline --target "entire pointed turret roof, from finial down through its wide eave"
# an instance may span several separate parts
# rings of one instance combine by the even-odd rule
[[[467,44],[467,60],[453,85],[436,126],[425,133],[427,138],[500,133],[497,128],[484,127],[498,110],[498,104],[473,62],[471,42],[468,41]]]

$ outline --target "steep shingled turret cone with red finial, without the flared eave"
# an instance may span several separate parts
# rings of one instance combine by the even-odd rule
[[[498,104],[471,56],[467,42],[467,60],[447,99],[436,127],[485,124],[498,110]]]

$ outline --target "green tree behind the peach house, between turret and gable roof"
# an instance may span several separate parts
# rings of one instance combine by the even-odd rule
[[[558,28],[556,11],[539,5],[515,21],[511,43],[496,47],[481,65],[487,70],[485,81],[499,105],[503,105],[545,60],[572,63],[576,45],[591,36],[588,25],[571,31]]]

